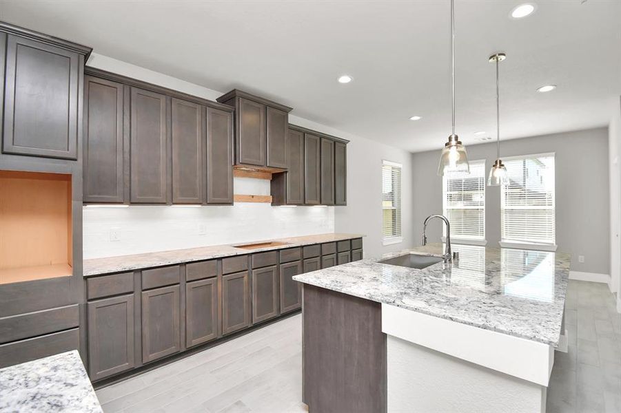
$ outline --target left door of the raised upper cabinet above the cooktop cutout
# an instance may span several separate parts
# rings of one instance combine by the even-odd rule
[[[238,99],[237,163],[265,167],[265,105]]]

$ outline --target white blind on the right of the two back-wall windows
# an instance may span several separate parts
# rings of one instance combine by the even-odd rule
[[[554,154],[503,162],[509,183],[500,190],[502,241],[555,244]]]

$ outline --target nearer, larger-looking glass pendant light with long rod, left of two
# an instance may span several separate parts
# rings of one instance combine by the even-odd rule
[[[455,134],[455,4],[451,0],[451,136],[440,155],[438,175],[449,173],[470,173],[466,148]]]

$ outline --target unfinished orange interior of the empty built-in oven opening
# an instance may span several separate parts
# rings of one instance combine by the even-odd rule
[[[0,284],[69,275],[71,176],[0,171]]]

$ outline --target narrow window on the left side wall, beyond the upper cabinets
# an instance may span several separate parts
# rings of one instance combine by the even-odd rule
[[[382,163],[382,240],[384,245],[401,242],[401,165]]]

